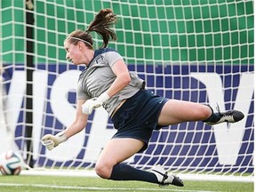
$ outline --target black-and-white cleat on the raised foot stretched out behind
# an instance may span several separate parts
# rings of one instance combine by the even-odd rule
[[[220,124],[223,122],[236,123],[244,118],[244,114],[241,111],[229,110],[227,112],[220,113],[220,108],[217,106],[218,113],[220,114],[220,120],[218,122],[205,122],[209,125]]]

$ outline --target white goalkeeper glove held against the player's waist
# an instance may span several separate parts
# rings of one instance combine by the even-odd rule
[[[94,108],[100,108],[100,106],[106,102],[110,97],[107,92],[100,95],[99,98],[92,98],[91,100],[86,100],[82,105],[82,112],[86,115],[92,114]]]

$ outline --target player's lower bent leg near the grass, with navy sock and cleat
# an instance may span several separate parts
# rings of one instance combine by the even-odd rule
[[[160,166],[151,172],[142,171],[128,164],[120,164],[143,148],[144,142],[135,139],[113,139],[102,150],[95,170],[100,177],[109,180],[140,180],[159,185],[183,186],[182,180],[168,174]]]

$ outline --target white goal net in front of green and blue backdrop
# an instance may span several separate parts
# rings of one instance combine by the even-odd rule
[[[9,146],[20,150],[35,169],[90,170],[116,132],[100,108],[89,117],[83,132],[58,148],[48,151],[40,142],[44,134],[65,129],[76,113],[76,81],[83,67],[65,60],[64,39],[73,30],[87,28],[100,9],[111,8],[118,22],[117,41],[109,47],[124,56],[128,68],[145,79],[148,89],[170,99],[212,108],[218,104],[221,111],[236,108],[245,115],[236,124],[189,122],[164,127],[153,133],[148,149],[127,164],[141,169],[162,164],[168,171],[192,178],[228,175],[252,180],[252,0],[10,0],[0,4],[4,101],[0,140],[8,134]],[[34,22],[28,23],[28,16]],[[32,37],[28,37],[29,28]],[[99,48],[99,36],[94,34],[93,40],[94,48]],[[31,57],[33,65],[28,66]],[[28,113],[33,116],[30,123]]]

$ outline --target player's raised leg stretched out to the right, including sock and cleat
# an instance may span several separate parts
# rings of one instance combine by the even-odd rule
[[[240,111],[230,110],[213,113],[210,106],[184,100],[168,100],[161,110],[158,124],[180,124],[189,121],[204,121],[207,124],[220,124],[222,122],[235,123],[244,118]]]

